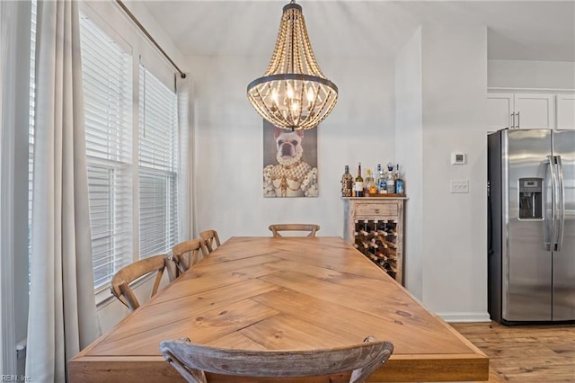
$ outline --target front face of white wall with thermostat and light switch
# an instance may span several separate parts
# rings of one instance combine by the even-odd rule
[[[487,319],[487,30],[424,26],[422,299],[447,320]],[[452,151],[465,165],[450,165]],[[469,193],[450,192],[469,180]]]

